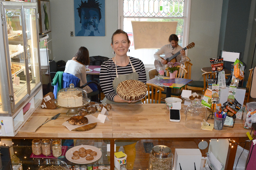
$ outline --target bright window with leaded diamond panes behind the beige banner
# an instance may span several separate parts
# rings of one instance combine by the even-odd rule
[[[139,58],[145,66],[154,66],[154,54],[158,49],[134,50],[131,21],[178,21],[176,35],[179,45],[188,43],[188,27],[191,0],[119,0],[120,28],[131,41],[129,56]],[[169,37],[165,37],[168,42]]]

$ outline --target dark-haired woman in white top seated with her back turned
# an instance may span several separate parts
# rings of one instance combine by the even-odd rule
[[[85,47],[80,47],[72,60],[69,60],[66,64],[65,73],[73,74],[80,79],[80,86],[87,83],[85,65],[89,65],[89,51]],[[87,94],[93,90],[89,86],[83,88]]]

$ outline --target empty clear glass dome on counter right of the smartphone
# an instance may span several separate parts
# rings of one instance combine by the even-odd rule
[[[186,115],[184,125],[189,129],[201,130],[201,122],[204,122],[203,119],[207,120],[207,108],[198,99],[187,106],[184,114]]]

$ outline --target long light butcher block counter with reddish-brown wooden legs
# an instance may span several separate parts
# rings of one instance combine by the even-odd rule
[[[221,131],[214,130],[191,130],[184,126],[184,111],[187,106],[182,104],[181,121],[170,122],[169,111],[165,104],[112,104],[109,113],[109,121],[105,123],[98,122],[97,126],[89,131],[75,132],[69,131],[65,126],[61,125],[70,117],[66,115],[68,109],[56,108],[53,110],[37,108],[32,116],[28,119],[28,123],[35,116],[52,116],[61,113],[56,120],[51,120],[42,125],[35,133],[18,132],[14,138],[61,138],[61,139],[110,139],[111,144],[111,162],[114,162],[114,139],[168,139],[180,138],[190,140],[195,138],[231,138],[239,142],[239,139],[246,137],[246,132],[250,129],[243,128],[243,121],[236,120],[234,127],[225,127]],[[99,112],[92,114],[98,117]],[[208,115],[210,112],[208,113]],[[213,119],[208,122],[213,123]],[[25,123],[25,125],[26,125]],[[112,140],[111,140],[112,139]],[[244,139],[243,139],[244,140]],[[232,169],[236,148],[228,151],[228,157],[225,169]],[[227,164],[228,163],[228,164]],[[112,164],[113,166],[113,164]],[[114,167],[111,166],[113,170]]]

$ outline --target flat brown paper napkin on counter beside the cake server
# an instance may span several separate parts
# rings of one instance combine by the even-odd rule
[[[19,131],[35,132],[47,119],[47,116],[34,116],[29,122],[26,122]]]

